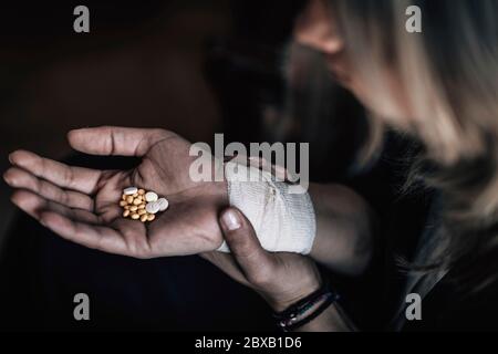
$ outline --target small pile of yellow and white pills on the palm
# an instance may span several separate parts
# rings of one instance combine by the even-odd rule
[[[158,211],[168,208],[166,198],[159,198],[154,191],[146,191],[142,188],[127,187],[123,190],[120,206],[123,208],[123,217],[142,222],[153,221]]]

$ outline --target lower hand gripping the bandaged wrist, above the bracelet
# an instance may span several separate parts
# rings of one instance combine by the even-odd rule
[[[310,258],[267,252],[251,223],[238,209],[224,210],[219,220],[231,253],[201,256],[262,295],[274,311],[284,310],[321,287],[319,270]]]

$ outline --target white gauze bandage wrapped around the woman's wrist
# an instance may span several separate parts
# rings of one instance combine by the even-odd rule
[[[255,177],[256,176],[256,177]],[[317,231],[310,195],[300,186],[278,181],[271,173],[229,162],[225,165],[230,206],[251,222],[263,249],[308,254]],[[290,192],[289,188],[294,188]],[[229,252],[226,242],[218,249]]]

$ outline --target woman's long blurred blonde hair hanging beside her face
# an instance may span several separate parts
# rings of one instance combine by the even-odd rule
[[[445,256],[434,264],[453,267],[465,259],[475,270],[471,279],[483,278],[480,284],[495,280],[498,266],[478,263],[484,254],[492,253],[496,260],[498,248],[498,2],[330,4],[346,53],[376,98],[393,101],[386,71],[401,79],[408,93],[413,117],[373,117],[373,140],[378,142],[380,125],[392,125],[424,145],[412,176],[442,191],[449,238]],[[405,29],[405,10],[414,4],[422,10],[422,33]]]

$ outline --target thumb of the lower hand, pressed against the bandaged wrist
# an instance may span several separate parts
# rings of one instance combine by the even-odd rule
[[[236,208],[228,208],[220,216],[221,231],[237,263],[247,280],[258,284],[272,273],[274,260],[259,243],[250,221]]]

